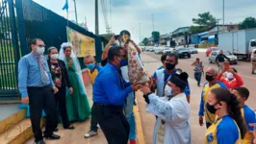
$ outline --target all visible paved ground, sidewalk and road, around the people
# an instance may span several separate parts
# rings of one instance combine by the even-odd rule
[[[154,53],[150,52],[144,52],[141,55],[141,58],[144,62],[145,68],[148,71],[148,73],[152,74],[157,67],[159,67],[162,63],[160,62],[161,55],[155,55]],[[192,55],[192,59],[184,59],[179,60],[179,68],[182,68],[184,71],[187,71],[191,78],[189,79],[189,82],[191,84],[191,128],[192,128],[192,141],[194,144],[202,144],[203,143],[203,136],[205,132],[205,127],[200,127],[198,125],[198,108],[199,108],[199,102],[200,102],[200,93],[201,93],[201,87],[197,87],[195,81],[192,79],[193,77],[193,67],[191,66],[191,63],[195,58],[200,58],[201,60],[205,61],[205,66],[215,66],[212,64],[208,64],[208,59],[205,57],[204,53]],[[251,108],[256,108],[253,103],[255,103],[255,96],[253,95],[255,90],[254,84],[256,76],[253,76],[250,74],[250,63],[249,62],[239,62],[238,65],[234,65],[235,68],[238,69],[239,73],[243,75],[243,81],[244,85],[247,86],[252,93],[249,100],[248,105]],[[202,83],[204,83],[203,81]],[[90,85],[87,86],[88,93],[91,93],[91,87]],[[91,95],[90,96],[90,102],[91,102]],[[143,100],[141,92],[137,92],[136,94],[139,111],[141,114],[141,125],[142,130],[144,134],[144,140],[146,144],[151,144],[152,140],[152,132],[154,129],[155,124],[155,116],[153,114],[147,113],[145,111],[145,102]],[[57,132],[58,134],[62,135],[61,140],[56,141],[46,141],[47,144],[105,144],[106,139],[103,135],[103,133],[99,130],[99,135],[92,137],[90,139],[84,138],[84,133],[89,131],[90,128],[90,120],[87,120],[83,123],[76,123],[74,124],[76,129],[74,131],[64,131],[60,130],[60,132]],[[61,128],[61,127],[59,127]],[[32,144],[33,138],[30,139],[26,144]]]

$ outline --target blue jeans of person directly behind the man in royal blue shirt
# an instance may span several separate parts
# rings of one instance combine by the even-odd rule
[[[126,104],[124,105],[125,117],[130,126],[129,139],[131,140],[136,139],[136,123],[135,123],[133,106],[134,106],[134,92],[131,92],[128,94],[128,97],[126,98]]]

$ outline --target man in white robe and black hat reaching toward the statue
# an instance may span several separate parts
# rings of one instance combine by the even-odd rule
[[[146,110],[158,116],[152,144],[192,144],[190,105],[184,93],[188,77],[187,73],[173,74],[167,83],[171,92],[165,97],[150,92],[148,84],[141,87]]]

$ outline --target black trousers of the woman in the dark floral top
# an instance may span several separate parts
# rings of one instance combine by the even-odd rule
[[[66,105],[65,105],[65,103],[66,103],[65,102],[66,101],[65,100],[65,87],[59,88],[59,91],[54,96],[55,96],[55,101],[56,101],[56,108],[57,108],[57,106],[59,107],[64,128],[69,128],[70,123],[69,123],[69,119],[67,116]]]

